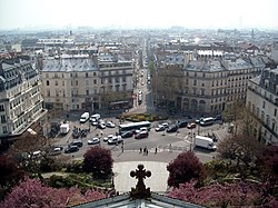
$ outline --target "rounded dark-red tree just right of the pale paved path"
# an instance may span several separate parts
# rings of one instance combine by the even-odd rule
[[[167,170],[170,172],[168,178],[168,186],[170,187],[179,187],[179,184],[192,178],[199,180],[205,178],[203,166],[191,151],[180,153],[167,166]]]

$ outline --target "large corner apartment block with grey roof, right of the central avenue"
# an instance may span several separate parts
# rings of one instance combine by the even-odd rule
[[[264,68],[260,58],[222,51],[171,53],[156,71],[155,99],[163,102],[166,82],[171,82],[175,85],[170,93],[177,109],[192,115],[218,115],[234,102],[246,100],[248,80]],[[166,73],[167,70],[170,72]]]

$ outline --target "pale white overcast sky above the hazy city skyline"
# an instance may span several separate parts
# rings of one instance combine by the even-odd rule
[[[0,29],[64,26],[278,29],[278,0],[0,0]]]

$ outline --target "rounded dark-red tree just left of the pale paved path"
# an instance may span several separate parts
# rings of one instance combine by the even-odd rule
[[[97,177],[107,177],[112,172],[111,151],[102,147],[92,147],[85,153],[83,170]]]

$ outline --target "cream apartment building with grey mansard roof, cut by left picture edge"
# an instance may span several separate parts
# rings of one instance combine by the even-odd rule
[[[0,62],[0,137],[24,132],[42,119],[41,82],[27,57],[3,59]]]

